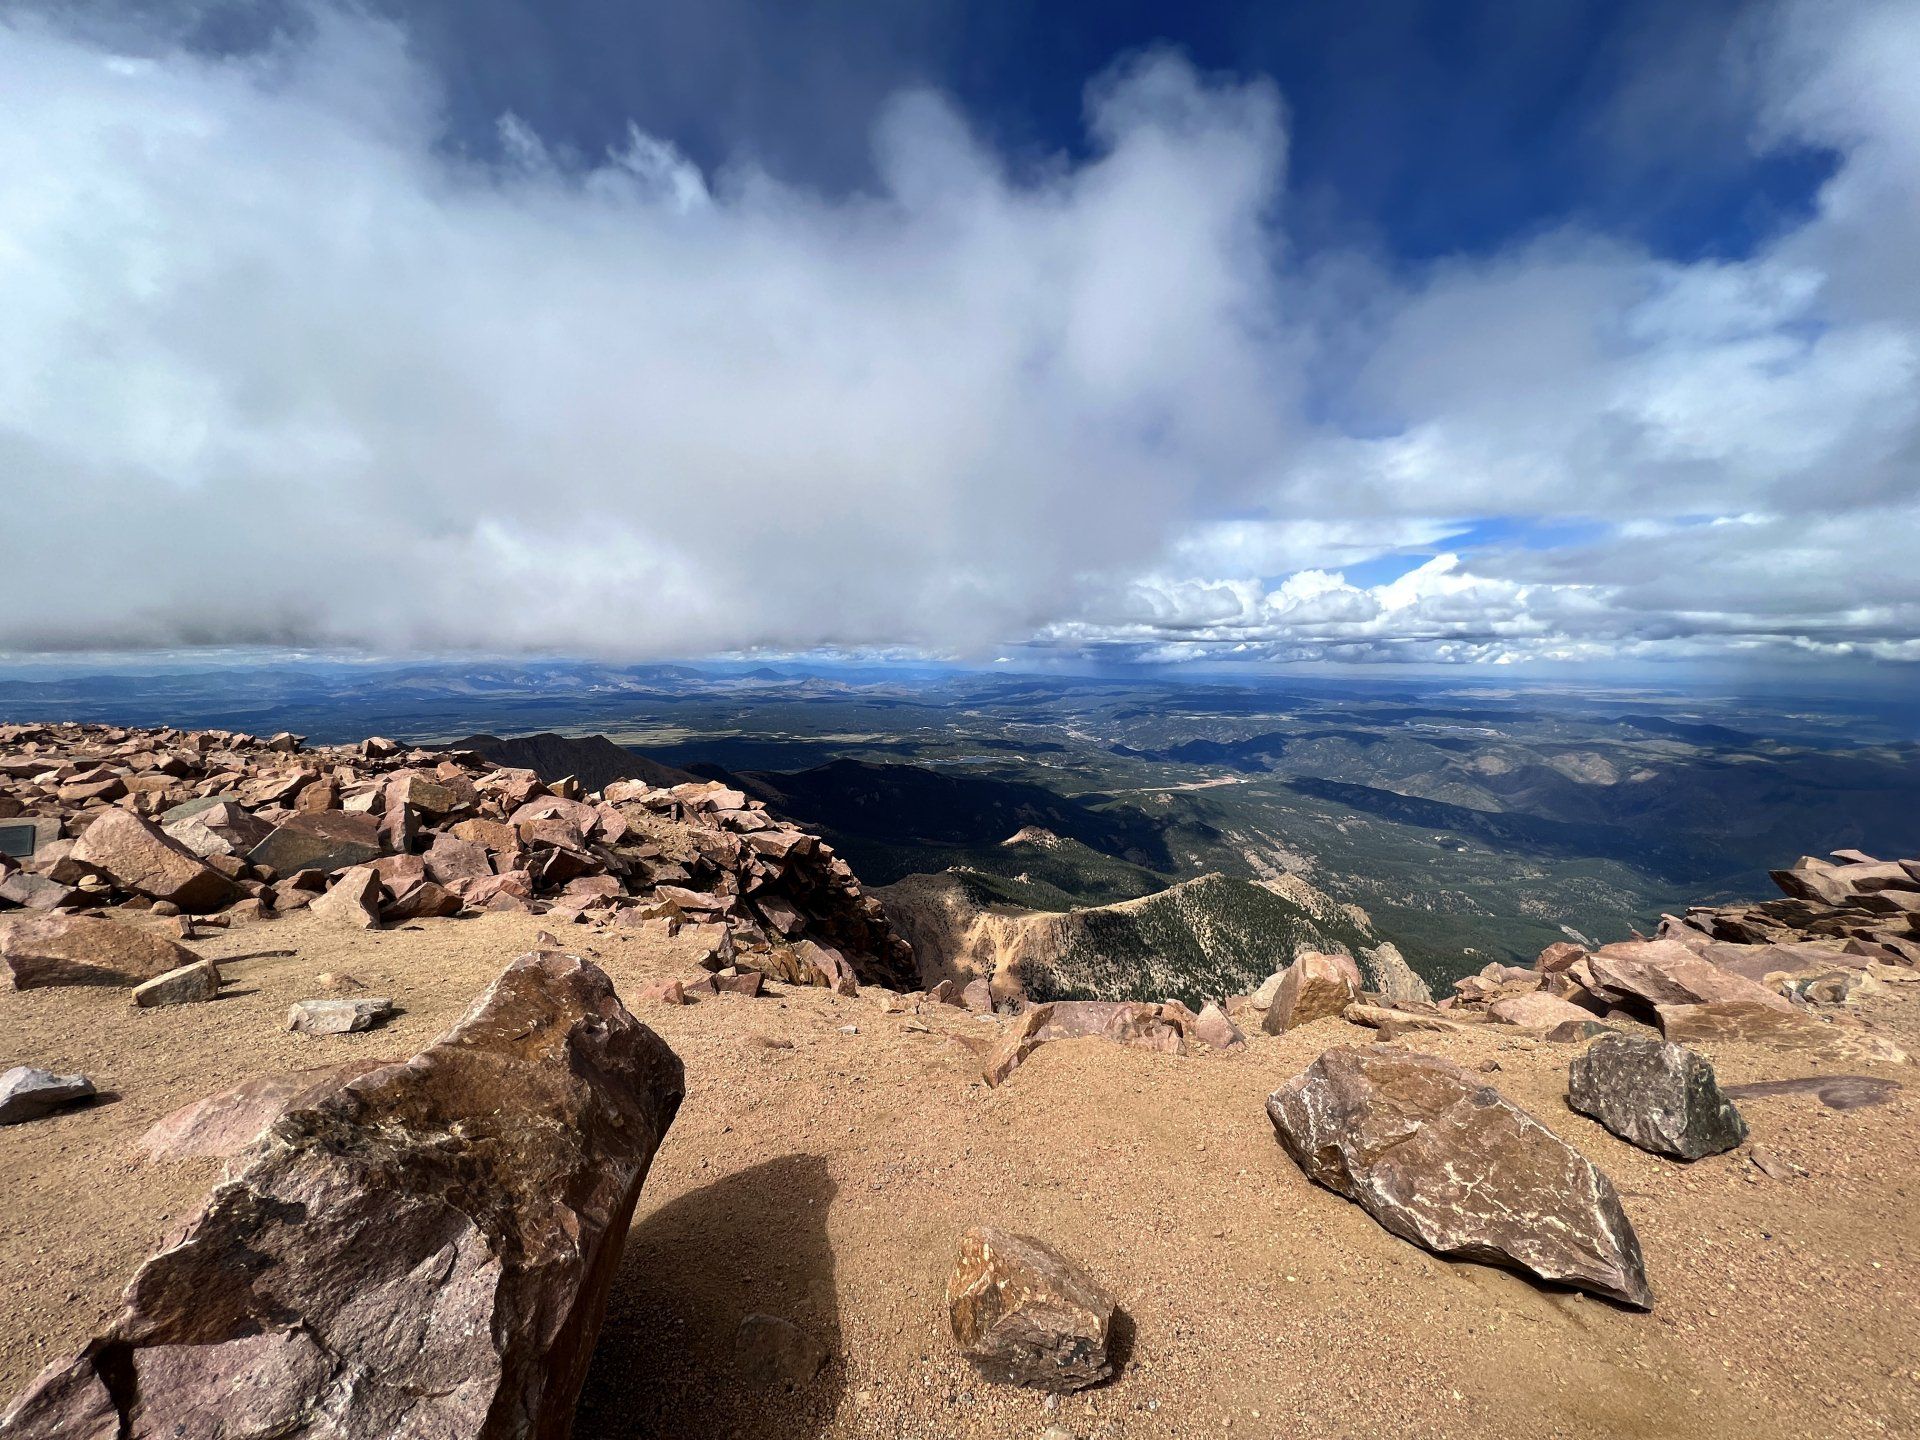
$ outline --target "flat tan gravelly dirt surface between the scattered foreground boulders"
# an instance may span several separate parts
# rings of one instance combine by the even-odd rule
[[[0,1131],[0,1396],[100,1327],[215,1181],[217,1162],[140,1162],[148,1123],[248,1075],[411,1054],[540,925],[367,935],[294,916],[198,943],[228,960],[228,995],[207,1006],[0,993],[0,1068],[84,1069],[115,1096]],[[691,972],[659,943],[563,939],[597,950],[624,995]],[[342,970],[403,1014],[371,1035],[280,1029],[321,972]],[[1920,1050],[1920,987],[1905,991],[1868,1014]],[[1857,1071],[1905,1087],[1878,1108],[1747,1102],[1755,1139],[1811,1171],[1780,1183],[1743,1152],[1680,1165],[1569,1112],[1571,1046],[1411,1041],[1469,1068],[1498,1060],[1490,1083],[1613,1177],[1657,1296],[1642,1315],[1436,1260],[1309,1185],[1261,1102],[1323,1048],[1373,1039],[1342,1021],[1238,1056],[1056,1043],[989,1091],[966,1039],[993,1023],[954,1008],[924,1008],[927,1035],[870,996],[820,991],[639,1014],[685,1060],[687,1100],[636,1212],[582,1440],[1920,1434],[1910,1066]],[[1834,1069],[1747,1046],[1713,1058],[1730,1083]],[[1050,1402],[956,1356],[943,1283],[977,1221],[1035,1233],[1114,1288],[1133,1331],[1116,1382]],[[732,1336],[751,1311],[829,1348],[812,1386],[735,1379]]]

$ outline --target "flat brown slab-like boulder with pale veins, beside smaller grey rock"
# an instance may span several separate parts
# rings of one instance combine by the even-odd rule
[[[1308,1179],[1442,1256],[1649,1308],[1613,1183],[1465,1069],[1390,1044],[1329,1050],[1267,1096]]]

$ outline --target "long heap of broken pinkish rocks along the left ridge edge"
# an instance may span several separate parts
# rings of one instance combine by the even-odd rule
[[[0,726],[0,912],[150,910],[180,916],[184,935],[196,916],[303,906],[355,927],[530,910],[603,929],[712,925],[730,962],[797,985],[916,983],[847,862],[720,783],[588,795],[390,739]],[[192,960],[119,966],[113,983]],[[75,964],[94,962],[29,970]]]

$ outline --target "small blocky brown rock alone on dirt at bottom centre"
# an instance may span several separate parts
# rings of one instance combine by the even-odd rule
[[[1114,1296],[1044,1240],[977,1225],[960,1236],[947,1313],[983,1375],[1083,1390],[1114,1373]]]

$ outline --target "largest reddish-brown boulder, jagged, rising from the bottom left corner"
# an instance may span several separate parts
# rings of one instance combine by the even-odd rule
[[[280,1116],[0,1428],[561,1440],[682,1089],[599,970],[522,956],[407,1064]]]

